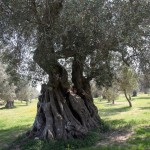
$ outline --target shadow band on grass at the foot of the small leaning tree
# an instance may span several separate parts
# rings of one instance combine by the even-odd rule
[[[126,112],[131,110],[131,107],[121,107],[121,108],[108,108],[108,109],[98,109],[99,115],[101,116],[110,116],[110,115],[116,115],[121,112]]]

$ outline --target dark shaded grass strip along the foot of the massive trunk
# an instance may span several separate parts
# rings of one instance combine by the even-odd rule
[[[85,137],[67,140],[35,140],[22,134],[7,149],[3,150],[76,150],[91,147],[100,139],[97,130],[90,131]]]

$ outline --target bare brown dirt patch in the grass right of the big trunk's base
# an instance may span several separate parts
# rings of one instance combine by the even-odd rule
[[[97,146],[107,146],[112,144],[121,144],[126,143],[126,141],[134,134],[133,131],[124,131],[124,130],[118,130],[109,132],[106,134],[101,134],[101,137],[103,138],[99,143],[97,143]]]

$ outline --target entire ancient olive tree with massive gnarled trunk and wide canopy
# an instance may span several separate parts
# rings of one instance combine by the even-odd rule
[[[118,54],[116,61],[129,63],[140,52],[137,39],[147,36],[142,27],[148,24],[149,3],[1,0],[0,4],[0,32],[10,65],[18,71],[29,65],[29,73],[36,69],[36,63],[49,76],[48,83],[42,85],[28,135],[68,139],[96,128],[101,120],[90,81],[95,78],[99,85],[110,84],[112,54]]]

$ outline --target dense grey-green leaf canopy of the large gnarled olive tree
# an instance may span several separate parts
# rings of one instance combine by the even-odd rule
[[[114,55],[115,61],[145,64],[149,19],[149,2],[140,0],[2,0],[1,44],[13,69],[35,70],[33,54],[47,73],[58,59],[79,57],[85,76],[103,84],[111,78]]]

